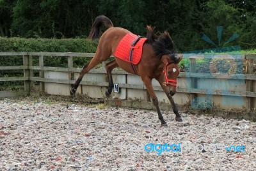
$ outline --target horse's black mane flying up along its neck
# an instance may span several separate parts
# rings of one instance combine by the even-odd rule
[[[164,31],[164,33],[161,33],[157,37],[152,27],[147,26],[147,39],[148,43],[152,45],[156,57],[161,58],[162,56],[169,54],[173,61],[176,61],[174,54],[177,52],[177,49],[167,31]]]

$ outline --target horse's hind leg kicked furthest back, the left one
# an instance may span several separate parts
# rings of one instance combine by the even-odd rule
[[[77,89],[78,85],[80,84],[84,75],[86,73],[88,73],[88,71],[92,70],[92,68],[94,68],[97,64],[99,64],[101,62],[102,62],[102,60],[97,59],[97,57],[95,55],[95,57],[93,57],[93,59],[91,59],[91,61],[89,63],[84,65],[84,68],[81,71],[79,77],[77,78],[75,84],[72,86],[72,89],[70,89],[70,95],[73,95],[76,93],[76,89]]]

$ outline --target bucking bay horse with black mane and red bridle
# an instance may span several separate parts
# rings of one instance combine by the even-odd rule
[[[106,31],[104,31],[103,34],[100,30],[102,25],[106,27]],[[91,40],[100,38],[99,44],[95,52],[95,56],[84,65],[83,70],[81,71],[75,84],[72,85],[70,95],[76,93],[79,83],[81,82],[83,76],[88,73],[88,71],[102,61],[106,61],[112,54],[115,56],[114,52],[118,46],[118,43],[128,33],[131,32],[127,29],[114,27],[111,20],[104,15],[100,15],[95,18],[88,38]],[[138,39],[140,39],[140,37],[138,37]],[[116,56],[115,59],[106,64],[106,71],[109,81],[108,88],[106,89],[106,96],[110,96],[114,87],[111,75],[111,71],[114,68],[119,66],[128,73],[136,73],[144,82],[150,98],[156,107],[158,118],[161,121],[161,126],[167,126],[166,121],[164,121],[163,115],[159,109],[159,102],[152,86],[152,79],[156,78],[172,104],[173,112],[176,115],[175,120],[181,122],[182,118],[180,117],[179,111],[177,110],[172,96],[176,93],[177,77],[180,73],[178,63],[182,60],[182,56],[177,57],[175,55],[175,45],[167,31],[164,31],[164,33],[161,33],[161,35],[157,37],[152,27],[147,26],[146,39],[147,40],[145,40],[142,47],[142,55],[138,64],[134,64],[133,67],[131,67],[131,63],[123,61]],[[132,49],[132,47],[133,46],[130,48]]]

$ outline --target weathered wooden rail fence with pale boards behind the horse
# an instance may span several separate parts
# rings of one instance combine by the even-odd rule
[[[239,55],[236,59],[245,61],[245,72],[234,73],[196,73],[196,60],[212,58],[212,54],[183,54],[189,61],[189,71],[181,72],[178,78],[179,87],[173,97],[175,103],[182,105],[191,103],[195,108],[255,109],[256,107],[256,74],[253,73],[256,55]],[[81,68],[74,68],[73,57],[93,57],[92,53],[55,53],[55,52],[0,52],[0,60],[6,56],[20,56],[23,58],[21,66],[0,66],[1,70],[21,70],[23,77],[0,77],[0,82],[24,81],[24,91],[0,91],[0,98],[19,96],[31,93],[33,82],[39,82],[40,91],[49,94],[69,95],[69,89],[74,84]],[[67,68],[44,66],[44,57],[67,57]],[[39,65],[33,65],[33,57],[38,57]],[[214,59],[234,59],[230,55],[214,56]],[[102,98],[108,78],[106,77],[105,63],[99,69],[93,69],[84,76],[77,88],[77,93],[87,94],[92,98]],[[35,77],[35,70],[39,77]],[[145,85],[141,78],[123,70],[113,70],[113,80],[118,84],[120,91],[113,93],[121,100],[150,101]],[[169,103],[163,90],[156,80],[153,86],[160,101]],[[209,101],[208,101],[209,100]]]

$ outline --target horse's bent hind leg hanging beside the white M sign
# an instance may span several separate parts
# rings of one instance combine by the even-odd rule
[[[114,87],[113,83],[113,78],[112,78],[112,70],[116,68],[118,64],[116,63],[116,60],[114,59],[113,61],[110,61],[109,63],[106,64],[106,70],[107,70],[107,75],[108,75],[108,89],[106,89],[106,96],[109,97],[110,94],[112,93],[112,89]]]

